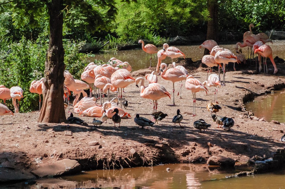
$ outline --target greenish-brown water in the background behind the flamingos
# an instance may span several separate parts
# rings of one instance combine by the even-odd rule
[[[201,41],[202,43],[203,41]],[[285,59],[285,50],[284,45],[285,41],[273,41],[273,44],[267,43],[273,50],[273,57],[279,56],[280,58]],[[178,47],[185,55],[186,58],[192,58],[193,61],[202,59],[204,49],[199,49],[199,45],[189,45],[189,46],[175,46]],[[235,53],[235,44],[221,44],[220,47],[231,50]],[[162,47],[158,47],[162,49]],[[248,55],[247,47],[242,48],[243,54]],[[103,54],[96,54],[95,57],[89,58],[88,60],[93,62],[94,59],[103,60],[108,62],[111,57],[116,57],[123,62],[129,62],[132,66],[133,71],[148,68],[150,65],[150,55],[143,51],[143,49],[134,49],[134,50],[124,50],[116,52],[106,52]],[[181,57],[182,58],[182,57]],[[177,58],[173,59],[176,61]],[[167,57],[162,62],[171,63],[171,58]],[[157,65],[157,56],[156,54],[152,55],[152,66]]]

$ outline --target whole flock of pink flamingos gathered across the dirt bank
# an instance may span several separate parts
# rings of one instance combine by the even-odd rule
[[[132,77],[131,74],[132,71],[131,64],[126,61],[123,62],[121,60],[118,60],[115,57],[110,58],[108,63],[102,65],[89,63],[84,68],[84,71],[81,74],[81,80],[75,79],[72,76],[72,74],[69,73],[68,70],[65,70],[64,71],[65,80],[63,85],[63,90],[64,90],[63,100],[66,100],[69,105],[69,96],[71,95],[72,92],[73,96],[75,96],[75,100],[72,103],[73,111],[75,114],[77,114],[78,116],[94,117],[94,120],[99,122],[100,125],[105,121],[107,122],[107,119],[112,119],[114,122],[114,126],[115,123],[118,123],[120,126],[121,118],[131,118],[131,114],[126,112],[125,105],[124,105],[125,109],[122,109],[122,99],[124,99],[124,102],[128,102],[128,100],[126,100],[126,97],[123,97],[124,88],[134,85],[136,87],[139,87],[140,90],[138,90],[138,92],[140,93],[140,97],[145,99],[150,99],[153,101],[153,109],[152,112],[150,112],[153,115],[160,113],[160,111],[156,113],[158,109],[158,100],[161,100],[163,98],[166,99],[172,98],[173,102],[172,105],[173,106],[175,105],[175,83],[179,81],[180,81],[180,88],[178,90],[177,96],[179,96],[180,94],[180,98],[182,98],[181,90],[183,86],[183,81],[185,80],[185,88],[191,91],[193,96],[193,104],[192,104],[193,112],[191,115],[196,116],[196,93],[205,91],[207,95],[209,92],[207,87],[215,88],[215,91],[213,92],[214,99],[213,102],[210,102],[210,105],[219,106],[217,100],[218,98],[217,87],[221,88],[226,84],[225,81],[226,65],[235,62],[238,63],[245,62],[245,57],[241,54],[241,49],[238,50],[238,47],[253,48],[253,53],[258,54],[259,71],[261,71],[262,69],[261,57],[265,58],[264,64],[266,66],[266,71],[267,71],[267,65],[266,65],[267,57],[273,63],[274,74],[278,71],[272,57],[272,49],[270,48],[269,45],[265,44],[266,42],[272,42],[272,41],[269,38],[266,38],[264,33],[259,33],[257,35],[254,35],[251,31],[251,27],[254,26],[250,25],[250,31],[244,34],[243,43],[238,42],[236,44],[235,48],[236,51],[238,52],[237,55],[232,53],[229,49],[220,47],[216,43],[216,41],[213,40],[207,40],[200,45],[200,48],[204,47],[210,51],[209,55],[205,55],[202,57],[202,63],[207,65],[208,67],[207,78],[204,82],[199,81],[198,77],[194,78],[194,76],[190,75],[189,72],[186,70],[186,68],[184,68],[182,65],[176,65],[176,63],[173,62],[174,58],[183,57],[185,59],[186,57],[186,55],[183,52],[181,52],[177,47],[169,47],[168,44],[163,44],[163,49],[158,50],[157,47],[155,47],[154,45],[152,44],[145,45],[142,40],[139,40],[139,44],[142,44],[142,49],[146,53],[150,55],[157,53],[158,62],[155,71],[146,74],[145,77],[134,78]],[[167,57],[171,58],[172,67],[170,67],[165,63],[162,63],[162,61],[165,60]],[[149,68],[151,68],[151,60],[152,56],[150,59]],[[215,73],[212,73],[212,68],[214,66],[222,68],[223,82],[221,82],[220,74],[217,75]],[[210,68],[210,76],[208,77],[209,68]],[[159,82],[158,76],[160,76],[166,82],[169,81],[172,82],[173,86],[172,95],[167,91],[167,89],[162,84],[158,83]],[[39,95],[39,110],[41,110],[41,94],[45,87],[43,84],[44,79],[45,78],[42,78],[38,81],[37,80],[31,81],[31,86],[29,89],[31,93],[36,93]],[[145,80],[148,81],[148,84],[146,84]],[[94,91],[92,87],[94,87]],[[98,94],[97,94],[97,88],[98,88]],[[85,92],[86,89],[90,90],[89,96]],[[135,88],[133,89],[136,90]],[[117,93],[113,95],[115,97],[112,100],[110,100],[110,95],[111,95],[110,92]],[[83,98],[80,99],[81,93],[83,95]],[[106,101],[104,99],[105,95],[107,95]],[[1,85],[0,99],[4,101],[4,105],[0,104],[0,115],[14,115],[14,113],[11,110],[9,110],[7,106],[5,106],[6,100],[9,100],[11,98],[14,105],[14,113],[18,113],[19,101],[21,98],[23,98],[23,90],[18,86],[11,87],[9,89]],[[99,102],[97,103],[98,99],[100,99],[100,103]],[[118,105],[119,101],[120,105]],[[168,104],[167,100],[161,100],[161,102]],[[151,110],[151,108],[149,109]],[[70,108],[68,108],[68,112],[70,112]],[[183,120],[183,116],[180,114],[180,110],[176,116],[180,116],[182,117],[182,119],[179,119],[179,121],[174,119],[173,123],[179,123],[180,125],[180,122]],[[102,118],[102,121],[96,120],[96,118]],[[137,123],[139,123],[140,126],[142,126],[142,128],[143,126],[152,126],[154,124],[154,123],[152,124],[150,120],[140,117],[139,114],[136,114],[135,120],[137,121]],[[181,128],[183,127],[181,126]]]

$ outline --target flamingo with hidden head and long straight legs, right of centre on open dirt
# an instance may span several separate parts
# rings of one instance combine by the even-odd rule
[[[196,92],[205,91],[207,95],[208,89],[199,81],[195,79],[192,75],[188,76],[185,82],[185,87],[191,90],[193,95],[193,115],[196,116]]]

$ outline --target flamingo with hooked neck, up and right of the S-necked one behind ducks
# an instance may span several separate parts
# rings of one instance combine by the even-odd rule
[[[173,84],[173,105],[175,105],[175,102],[174,102],[174,83],[177,82],[177,81],[183,81],[183,80],[186,80],[187,76],[184,75],[184,73],[177,69],[177,68],[170,68],[170,69],[167,69],[167,65],[165,63],[162,63],[160,65],[160,68],[161,71],[162,71],[162,74],[161,74],[161,77],[165,80],[168,80],[168,81],[172,81],[172,84]]]

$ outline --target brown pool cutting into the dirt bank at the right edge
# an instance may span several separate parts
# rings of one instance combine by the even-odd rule
[[[258,96],[245,104],[247,110],[254,112],[254,116],[263,117],[266,121],[285,122],[285,90]]]

